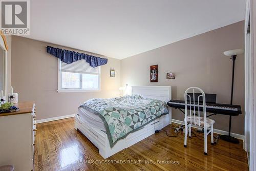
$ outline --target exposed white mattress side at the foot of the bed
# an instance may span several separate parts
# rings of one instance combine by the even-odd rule
[[[94,114],[94,113],[92,113],[92,112],[90,112],[90,111],[88,111],[84,108],[78,108],[78,115],[88,125],[96,128],[96,129],[99,129],[103,132],[106,131],[105,126],[103,124],[103,121],[98,115],[96,115],[96,114]]]

